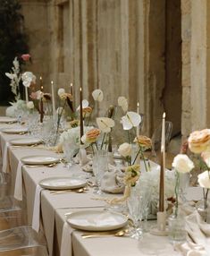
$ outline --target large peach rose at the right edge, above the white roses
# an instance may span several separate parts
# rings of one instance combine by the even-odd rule
[[[201,131],[191,132],[188,141],[191,152],[199,154],[206,151],[210,145],[210,130],[204,129]]]

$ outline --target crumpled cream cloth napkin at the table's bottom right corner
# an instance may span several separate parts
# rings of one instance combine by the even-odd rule
[[[184,256],[210,255],[210,225],[204,222],[197,210],[186,217],[186,243],[176,244],[175,249]]]

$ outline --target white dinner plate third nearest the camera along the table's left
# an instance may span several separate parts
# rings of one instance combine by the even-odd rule
[[[49,165],[58,163],[60,158],[51,156],[29,156],[21,158],[21,162],[25,165]]]

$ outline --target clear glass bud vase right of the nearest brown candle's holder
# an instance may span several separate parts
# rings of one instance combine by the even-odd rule
[[[168,237],[171,243],[182,243],[186,241],[186,229],[184,215],[178,210],[168,218]]]

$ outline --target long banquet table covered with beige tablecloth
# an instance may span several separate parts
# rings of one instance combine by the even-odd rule
[[[0,129],[4,127],[13,127],[17,124],[0,124]],[[0,132],[1,154],[4,154],[4,147],[6,142],[16,138],[24,138],[25,135],[6,134]],[[8,168],[7,171],[12,175],[12,187],[14,189],[14,182],[16,177],[17,166],[21,158],[36,155],[51,155],[57,154],[53,151],[40,149],[38,147],[8,147]],[[79,165],[74,165],[80,175],[82,170]],[[71,170],[68,170],[62,163],[54,167],[33,167],[22,166],[23,179],[23,202],[27,206],[28,223],[31,225],[34,198],[37,185],[40,180],[46,177],[53,176],[71,176]],[[13,193],[13,190],[12,190]],[[51,194],[48,190],[41,192],[40,209],[43,231],[46,235],[46,243],[49,255],[60,255],[63,225],[65,224],[64,214],[78,209],[102,209],[105,206],[103,201],[93,200],[93,191],[89,189],[85,193],[70,192],[65,194]],[[145,234],[143,239],[136,241],[130,237],[101,237],[83,239],[78,230],[73,230],[69,236],[69,243],[71,243],[71,252],[65,252],[65,255],[74,256],[104,256],[104,255],[181,255],[179,252],[173,250],[172,244],[169,243],[167,237],[153,236]],[[83,232],[84,233],[84,232]]]

